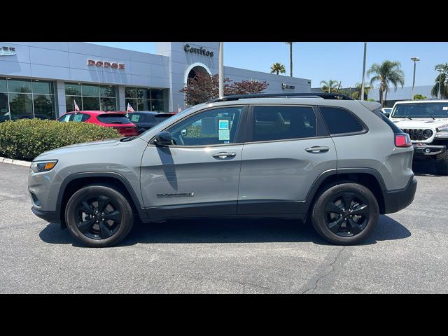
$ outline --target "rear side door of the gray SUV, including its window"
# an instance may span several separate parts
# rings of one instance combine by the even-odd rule
[[[241,156],[238,214],[300,214],[319,174],[336,168],[335,144],[313,106],[252,106]]]

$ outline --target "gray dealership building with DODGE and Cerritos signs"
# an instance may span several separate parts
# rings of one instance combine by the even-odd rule
[[[0,121],[81,110],[185,109],[188,78],[218,73],[218,42],[159,42],[157,53],[80,42],[0,42]],[[266,64],[269,69],[271,64]],[[224,66],[234,81],[267,81],[267,93],[311,92],[311,80]]]

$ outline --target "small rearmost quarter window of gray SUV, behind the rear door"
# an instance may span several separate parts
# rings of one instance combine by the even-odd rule
[[[363,132],[363,125],[346,109],[319,106],[331,135]]]

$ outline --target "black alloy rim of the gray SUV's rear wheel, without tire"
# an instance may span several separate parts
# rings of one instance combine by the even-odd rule
[[[367,201],[360,195],[343,192],[327,203],[325,223],[340,237],[352,237],[365,229],[370,218]]]

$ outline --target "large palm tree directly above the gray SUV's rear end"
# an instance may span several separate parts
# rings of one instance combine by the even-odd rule
[[[367,76],[370,76],[372,73],[375,76],[370,78],[370,85],[379,82],[379,104],[384,107],[389,84],[393,85],[395,91],[399,84],[403,87],[405,85],[405,73],[402,71],[401,64],[398,61],[384,61],[381,64],[374,63],[367,71]],[[384,99],[383,93],[385,93]]]

